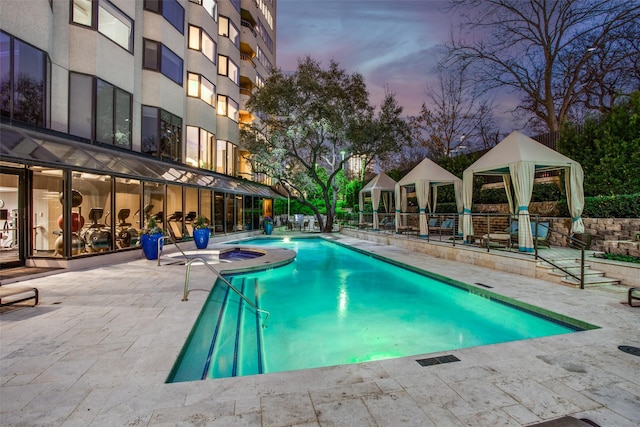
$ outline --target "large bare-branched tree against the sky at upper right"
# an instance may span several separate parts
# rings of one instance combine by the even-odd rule
[[[511,88],[548,131],[575,110],[610,110],[637,90],[637,0],[451,0],[461,34],[447,61],[474,66],[485,90]]]

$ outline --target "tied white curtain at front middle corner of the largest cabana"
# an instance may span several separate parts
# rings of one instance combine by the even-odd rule
[[[509,172],[511,173],[511,182],[513,183],[518,204],[518,250],[520,252],[533,252],[529,202],[533,192],[536,165],[534,162],[511,163]]]

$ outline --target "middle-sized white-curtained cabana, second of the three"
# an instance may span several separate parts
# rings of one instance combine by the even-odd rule
[[[458,212],[462,212],[462,180],[442,166],[425,158],[396,184],[396,231],[400,226],[400,213],[407,211],[406,187],[415,185],[418,199],[420,237],[427,237],[427,211],[434,213],[438,200],[438,187],[453,185]]]

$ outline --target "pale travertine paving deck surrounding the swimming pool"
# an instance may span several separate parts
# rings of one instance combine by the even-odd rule
[[[0,314],[3,426],[520,426],[573,415],[640,425],[640,308],[626,288],[580,290],[429,257],[341,242],[600,326],[393,360],[165,384],[213,284],[204,267],[139,259],[21,285],[35,307]],[[277,315],[272,313],[272,316]],[[459,362],[422,367],[416,359]]]

